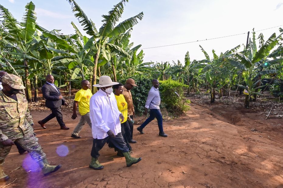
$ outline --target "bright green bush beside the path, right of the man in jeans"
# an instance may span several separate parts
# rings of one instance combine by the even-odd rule
[[[161,101],[164,103],[168,112],[180,114],[190,109],[187,105],[190,103],[190,100],[186,100],[184,97],[184,89],[188,88],[187,85],[171,78],[159,82]]]

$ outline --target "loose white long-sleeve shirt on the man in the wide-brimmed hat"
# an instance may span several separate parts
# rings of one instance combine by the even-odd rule
[[[114,135],[121,133],[121,123],[114,93],[107,96],[106,92],[98,90],[89,102],[90,120],[92,123],[93,138],[106,138],[109,130]]]

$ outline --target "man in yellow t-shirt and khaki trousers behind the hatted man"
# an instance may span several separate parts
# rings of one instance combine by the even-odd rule
[[[91,128],[91,120],[89,117],[89,101],[90,101],[90,97],[93,96],[93,94],[89,89],[90,88],[89,81],[82,80],[81,85],[82,85],[82,89],[80,89],[75,95],[75,99],[73,103],[72,119],[76,119],[77,117],[78,104],[79,104],[79,113],[81,114],[82,117],[71,135],[72,138],[82,138],[81,136],[79,136],[79,132],[82,130],[82,126],[85,123],[88,123]]]

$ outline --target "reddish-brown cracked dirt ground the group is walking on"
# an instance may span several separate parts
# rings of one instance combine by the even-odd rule
[[[157,135],[156,120],[146,126],[143,135],[135,125],[134,139],[138,143],[131,144],[132,156],[141,156],[142,161],[126,167],[125,159],[105,145],[99,158],[103,170],[88,167],[92,146],[89,126],[83,127],[82,139],[70,138],[79,117],[72,120],[72,112],[63,112],[70,130],[59,129],[55,118],[47,123],[47,129],[41,129],[37,123],[34,126],[49,162],[63,167],[43,176],[29,155],[19,155],[13,146],[4,164],[5,172],[11,177],[5,184],[42,188],[283,187],[282,126],[272,126],[281,125],[282,119],[264,120],[257,113],[241,113],[232,108],[220,108],[222,112],[218,113],[219,109],[213,108],[192,102],[185,115],[164,122],[167,138]],[[221,115],[226,112],[231,113],[226,117]],[[34,122],[48,114],[48,111],[32,112]],[[231,122],[232,116],[240,120]],[[250,126],[262,133],[252,132]],[[58,156],[56,150],[66,156]],[[22,167],[17,169],[19,166]]]

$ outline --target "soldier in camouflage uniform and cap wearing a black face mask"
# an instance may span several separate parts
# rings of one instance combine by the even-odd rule
[[[21,79],[13,74],[2,77],[3,89],[0,91],[0,180],[8,180],[2,165],[9,154],[14,142],[19,143],[28,151],[44,175],[48,175],[61,168],[61,165],[52,166],[47,162],[46,155],[38,143],[30,124],[33,118],[28,110],[28,102],[21,89],[25,87]]]

